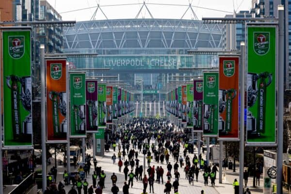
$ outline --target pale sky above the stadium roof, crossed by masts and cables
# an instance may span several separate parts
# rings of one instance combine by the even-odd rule
[[[104,12],[108,19],[132,19],[137,16],[144,2],[144,0],[47,0],[47,1],[55,8],[55,10],[57,10],[57,12],[61,14],[63,20],[76,20],[76,21],[90,20],[97,9],[97,7],[94,6],[97,6],[98,3],[101,7],[101,10]],[[147,8],[149,9],[154,18],[168,18],[168,19],[180,19],[186,12],[187,8],[189,7],[189,3],[192,4],[194,13],[198,17],[198,19],[201,19],[202,17],[224,17],[227,14],[233,13],[234,10],[236,10],[236,12],[239,12],[241,10],[250,10],[251,8],[251,0],[145,0],[145,2],[155,3],[155,5],[146,4]],[[121,6],[120,4],[134,4],[134,5]],[[176,5],[173,6],[161,4],[176,4]],[[89,7],[94,8],[68,12],[72,10]],[[208,10],[198,7],[222,10],[224,12]],[[146,7],[143,7],[138,18],[150,18],[150,15],[146,11]],[[102,14],[100,9],[98,9],[95,19],[102,20],[106,19],[106,17]],[[183,16],[183,19],[194,19],[194,14],[190,9],[188,9],[185,16]]]

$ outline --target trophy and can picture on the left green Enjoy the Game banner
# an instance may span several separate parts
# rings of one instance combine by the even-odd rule
[[[76,132],[85,131],[85,105],[73,105]]]

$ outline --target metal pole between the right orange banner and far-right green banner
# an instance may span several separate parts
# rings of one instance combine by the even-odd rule
[[[245,78],[245,45],[241,42],[241,116],[240,116],[240,194],[243,194],[243,167],[244,167],[244,78]]]

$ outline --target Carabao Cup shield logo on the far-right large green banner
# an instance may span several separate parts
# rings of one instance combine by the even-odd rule
[[[270,32],[254,32],[254,51],[265,55],[270,49]]]

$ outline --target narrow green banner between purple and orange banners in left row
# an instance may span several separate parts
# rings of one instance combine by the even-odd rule
[[[98,128],[106,128],[106,84],[98,84]]]

